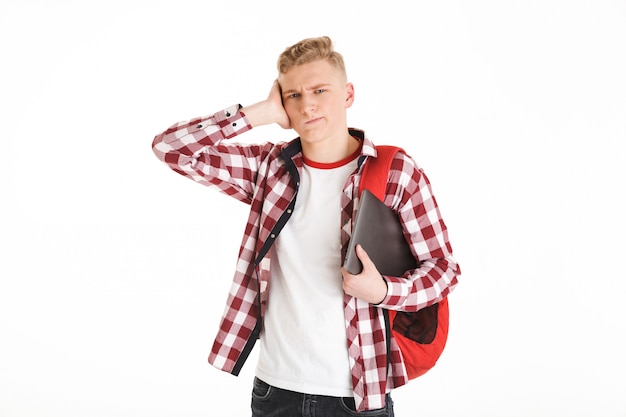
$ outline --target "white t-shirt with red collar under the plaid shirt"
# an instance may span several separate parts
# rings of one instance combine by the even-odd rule
[[[340,165],[340,166],[337,166]],[[352,396],[341,277],[341,193],[357,159],[304,165],[293,214],[271,249],[256,375],[307,394]]]

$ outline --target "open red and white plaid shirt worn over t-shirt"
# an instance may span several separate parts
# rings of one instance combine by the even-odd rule
[[[213,366],[234,375],[261,331],[270,284],[269,248],[291,216],[303,166],[299,139],[278,144],[225,143],[252,128],[239,109],[236,105],[212,116],[177,123],[157,135],[152,144],[155,155],[174,171],[251,205],[227,307],[209,355]],[[341,198],[342,255],[358,207],[363,162],[376,157],[374,145],[362,131],[351,129],[350,133],[363,146],[359,168],[350,176]],[[400,216],[420,264],[402,277],[385,277],[387,297],[379,305],[344,295],[347,346],[359,411],[382,408],[385,393],[408,381],[393,340],[387,369],[382,309],[417,311],[436,303],[456,286],[460,275],[429,181],[404,153],[392,164],[385,204]]]

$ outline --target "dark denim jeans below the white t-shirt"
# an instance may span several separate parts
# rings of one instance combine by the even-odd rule
[[[273,387],[254,378],[252,417],[394,417],[393,401],[387,394],[384,408],[355,411],[352,397],[302,394]]]

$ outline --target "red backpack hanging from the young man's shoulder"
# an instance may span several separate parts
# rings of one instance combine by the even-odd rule
[[[384,201],[391,163],[396,153],[404,150],[394,146],[377,146],[376,150],[378,157],[368,158],[363,167],[359,193],[367,189]],[[435,366],[448,339],[448,298],[417,312],[385,309],[384,314],[387,353],[389,340],[393,337],[402,352],[409,379],[417,378]]]

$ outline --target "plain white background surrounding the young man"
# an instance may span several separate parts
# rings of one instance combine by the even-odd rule
[[[350,124],[426,170],[463,270],[397,415],[626,416],[625,19],[605,0],[2,1],[0,416],[249,415],[256,351],[239,378],[206,362],[247,207],[150,145],[265,98],[278,54],[319,35]]]

